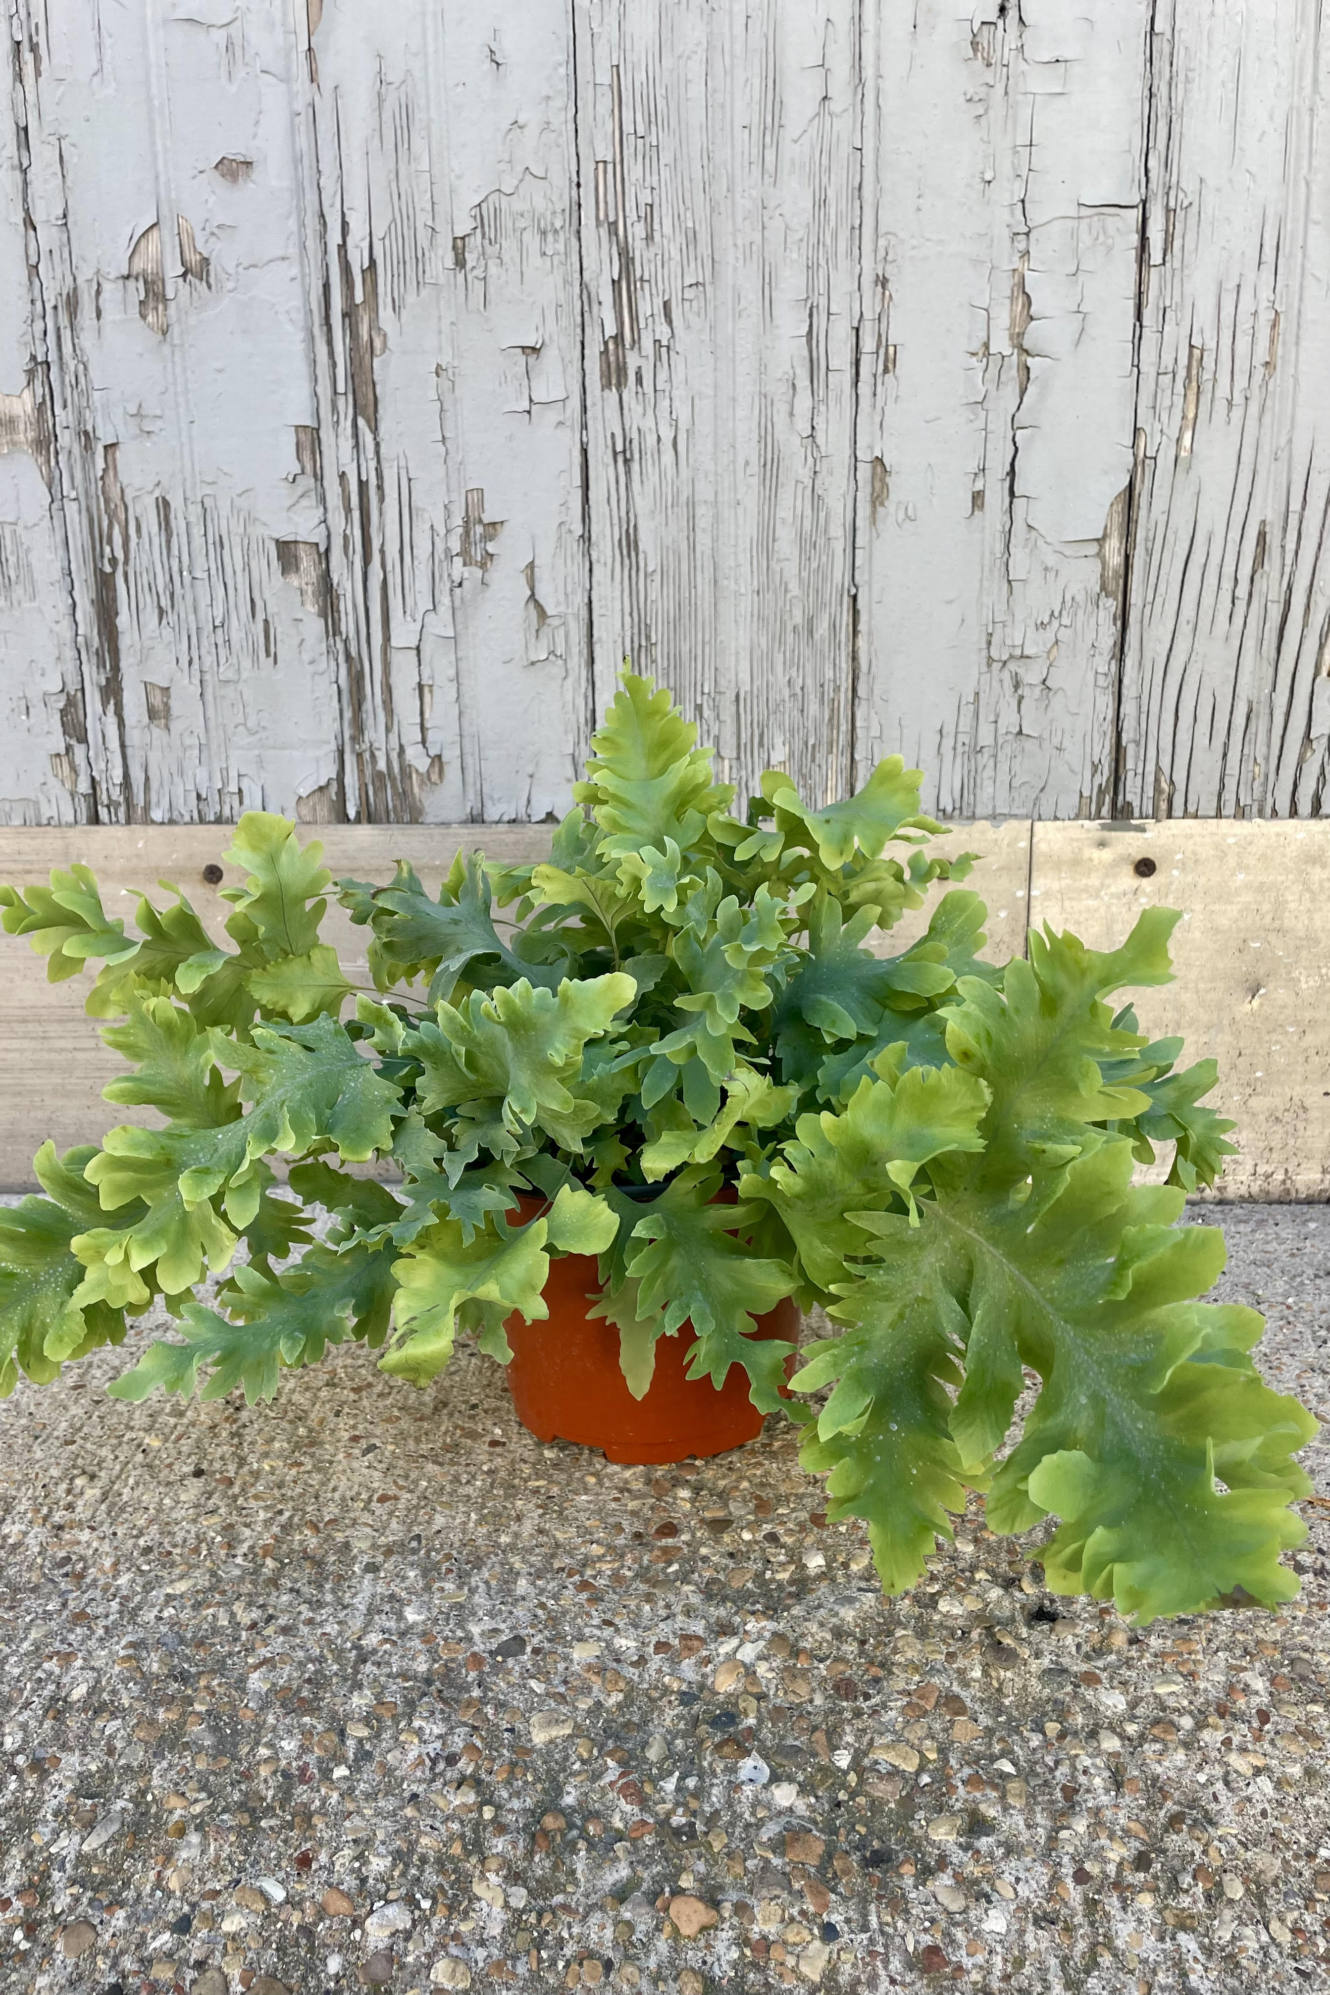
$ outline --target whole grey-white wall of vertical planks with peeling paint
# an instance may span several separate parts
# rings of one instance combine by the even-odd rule
[[[1322,810],[1322,0],[6,20],[0,822]]]

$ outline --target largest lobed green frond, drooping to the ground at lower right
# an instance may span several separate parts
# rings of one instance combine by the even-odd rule
[[[1139,1620],[1194,1614],[1234,1586],[1286,1600],[1296,1582],[1278,1554],[1302,1534],[1288,1500],[1310,1486],[1292,1452],[1314,1420],[1246,1359],[1252,1311],[1192,1301],[1222,1267],[1218,1229],[1176,1227],[1180,1191],[1133,1187],[1127,1137],[1089,1131],[1087,1145],[1037,1171],[1023,1199],[985,1191],[981,1161],[971,1185],[921,1207],[913,1235],[863,1215],[879,1265],[841,1285],[835,1315],[871,1329],[875,1299],[917,1289],[921,1271],[965,1309],[951,1436],[975,1464],[967,1480],[1005,1432],[1021,1367],[1039,1373],[987,1514],[1025,1530],[1059,1504],[1043,1554],[1055,1590]]]

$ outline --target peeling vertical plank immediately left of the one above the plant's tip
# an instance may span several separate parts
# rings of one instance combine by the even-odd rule
[[[345,698],[309,820],[568,808],[590,732],[570,90],[562,0],[510,20],[309,0],[297,130]]]

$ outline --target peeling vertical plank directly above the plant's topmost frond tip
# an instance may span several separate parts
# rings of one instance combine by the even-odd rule
[[[818,802],[851,766],[857,8],[582,0],[596,698],[624,654]]]

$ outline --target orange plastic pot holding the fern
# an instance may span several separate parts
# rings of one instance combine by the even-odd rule
[[[540,1205],[522,1199],[522,1207]],[[512,1406],[536,1440],[574,1440],[602,1448],[612,1462],[682,1462],[690,1454],[726,1454],[756,1440],[762,1414],[748,1396],[748,1373],[730,1367],[716,1391],[710,1379],[686,1379],[684,1359],[694,1329],[656,1339],[656,1371],[642,1398],[628,1391],[618,1365],[618,1331],[588,1317],[600,1293],[594,1255],[550,1261],[544,1285],[548,1317],[504,1325],[512,1363],[506,1367]],[[800,1313],[792,1301],[758,1317],[758,1337],[798,1341]]]

